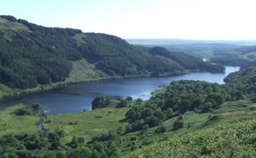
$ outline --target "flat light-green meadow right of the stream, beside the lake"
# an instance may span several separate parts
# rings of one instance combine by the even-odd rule
[[[106,107],[82,114],[52,115],[49,116],[51,122],[44,123],[44,128],[64,130],[64,143],[70,141],[73,136],[84,137],[89,141],[102,132],[124,127],[126,123],[120,121],[124,119],[127,111],[128,108]]]

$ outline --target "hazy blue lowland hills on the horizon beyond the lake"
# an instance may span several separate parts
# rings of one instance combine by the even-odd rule
[[[255,40],[184,40],[184,39],[127,39],[129,43],[156,46],[169,51],[182,51],[212,63],[225,66],[244,66],[256,59]]]

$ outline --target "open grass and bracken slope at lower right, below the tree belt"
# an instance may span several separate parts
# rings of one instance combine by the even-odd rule
[[[255,104],[241,100],[227,102],[212,114],[188,112],[183,115],[184,128],[171,130],[176,118],[167,120],[164,126],[168,132],[153,135],[153,145],[142,146],[124,157],[255,156],[250,144],[256,138],[255,109]]]

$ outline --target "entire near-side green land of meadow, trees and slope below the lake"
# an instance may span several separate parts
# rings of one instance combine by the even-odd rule
[[[253,69],[172,82],[146,101],[96,98],[90,112],[46,116],[43,131],[35,105],[5,108],[0,157],[255,157]]]

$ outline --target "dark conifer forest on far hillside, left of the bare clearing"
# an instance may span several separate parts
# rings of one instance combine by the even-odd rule
[[[70,64],[60,54],[63,51],[49,48],[49,43],[52,47],[60,42],[62,33],[58,34],[56,29],[50,28],[49,33],[41,32],[40,28],[24,35],[13,33],[12,42],[5,40],[4,36],[0,37],[1,83],[24,89],[37,84],[64,81],[68,76]],[[55,34],[56,37],[45,34]],[[43,43],[43,40],[47,43]]]

